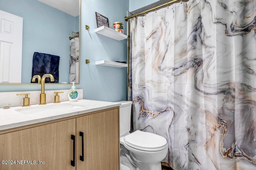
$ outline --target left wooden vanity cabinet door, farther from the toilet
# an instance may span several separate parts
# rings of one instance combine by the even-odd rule
[[[0,135],[0,170],[75,170],[73,141],[76,119]],[[10,164],[14,163],[15,164]],[[41,162],[40,162],[41,161]]]

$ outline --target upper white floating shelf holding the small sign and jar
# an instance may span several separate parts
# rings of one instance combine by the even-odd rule
[[[117,32],[114,29],[106,27],[105,25],[96,28],[95,32],[99,33],[101,35],[105,35],[106,37],[110,37],[112,39],[118,40],[118,41],[123,40],[123,39],[127,39],[127,35],[125,35],[123,33],[120,33],[120,32]]]

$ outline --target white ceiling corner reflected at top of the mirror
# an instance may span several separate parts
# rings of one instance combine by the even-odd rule
[[[79,0],[38,0],[74,17],[79,15]]]

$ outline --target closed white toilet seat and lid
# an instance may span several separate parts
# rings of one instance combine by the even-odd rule
[[[164,137],[139,130],[126,135],[124,143],[129,147],[144,151],[159,151],[168,147]]]

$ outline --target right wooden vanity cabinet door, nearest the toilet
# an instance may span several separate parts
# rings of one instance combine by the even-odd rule
[[[84,161],[82,137],[84,133]],[[77,170],[119,169],[119,112],[118,109],[102,111],[76,118]]]

